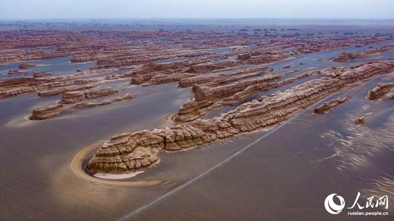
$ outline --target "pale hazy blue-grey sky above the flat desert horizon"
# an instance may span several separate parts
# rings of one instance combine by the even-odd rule
[[[0,0],[0,19],[394,18],[394,0]]]

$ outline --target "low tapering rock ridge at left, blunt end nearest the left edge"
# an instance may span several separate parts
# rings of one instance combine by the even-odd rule
[[[33,109],[33,120],[45,120],[48,118],[52,118],[65,110],[74,110],[74,109],[82,109],[82,108],[89,108],[95,106],[103,106],[108,105],[113,102],[121,102],[126,101],[134,98],[134,95],[126,94],[124,96],[118,96],[113,99],[102,100],[100,103],[88,102],[88,103],[77,103],[73,106],[64,106],[62,104],[57,105],[49,105],[49,106],[41,106],[35,107]]]

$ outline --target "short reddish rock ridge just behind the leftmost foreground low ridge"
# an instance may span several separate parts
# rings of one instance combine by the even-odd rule
[[[62,96],[61,102],[63,104],[77,103],[86,99],[93,99],[106,95],[114,95],[117,93],[119,93],[119,90],[113,88],[89,89],[82,92],[80,91],[66,92]]]

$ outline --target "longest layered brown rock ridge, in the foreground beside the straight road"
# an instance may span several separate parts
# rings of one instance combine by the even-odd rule
[[[192,126],[178,125],[120,134],[106,141],[98,149],[89,160],[87,169],[91,173],[130,172],[137,168],[127,166],[131,164],[128,156],[134,154],[144,158],[138,154],[138,148],[165,150],[168,147],[169,150],[181,150],[242,132],[275,126],[329,95],[356,87],[377,75],[387,74],[393,70],[394,60],[362,64],[328,73],[320,79],[313,79],[285,91],[243,103],[220,117],[196,120]],[[144,159],[149,161],[149,157]],[[150,165],[148,162],[145,163],[147,166]]]

